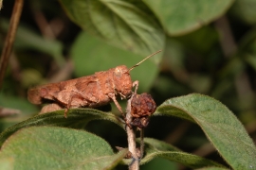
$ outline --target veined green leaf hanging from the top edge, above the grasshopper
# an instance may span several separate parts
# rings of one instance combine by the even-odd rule
[[[134,0],[60,0],[69,18],[101,40],[146,56],[163,49],[165,34],[154,14]],[[143,8],[139,8],[143,7]]]

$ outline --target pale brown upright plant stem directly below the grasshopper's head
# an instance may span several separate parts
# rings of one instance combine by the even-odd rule
[[[131,101],[134,97],[134,93],[131,98],[127,101],[126,108],[126,123],[129,125],[132,121],[131,116]],[[137,155],[136,147],[136,135],[132,127],[126,126],[127,139],[128,139],[128,149],[132,153],[133,161],[129,164],[129,170],[138,170],[139,169],[139,159]]]

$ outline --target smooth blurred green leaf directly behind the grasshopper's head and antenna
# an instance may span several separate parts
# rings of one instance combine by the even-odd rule
[[[150,53],[141,56],[119,49],[85,32],[78,36],[71,49],[76,76],[93,75],[95,72],[106,71],[119,65],[126,65],[129,68],[149,55]],[[153,84],[162,55],[163,52],[155,55],[131,71],[132,79],[139,80],[140,92],[148,91]]]

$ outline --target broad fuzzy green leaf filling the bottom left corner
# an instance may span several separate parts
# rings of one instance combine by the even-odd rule
[[[64,127],[28,127],[3,144],[2,158],[13,159],[13,169],[111,169],[126,155],[114,154],[100,137]]]

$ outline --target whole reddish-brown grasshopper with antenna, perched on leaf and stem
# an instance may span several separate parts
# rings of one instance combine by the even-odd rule
[[[65,117],[70,108],[97,108],[111,101],[114,101],[123,114],[116,97],[119,95],[121,99],[127,99],[132,94],[133,87],[136,87],[137,91],[138,86],[138,81],[132,81],[130,71],[160,51],[142,59],[130,69],[125,65],[120,65],[107,71],[96,72],[91,76],[82,76],[31,88],[27,92],[27,99],[36,105],[49,100],[53,104],[46,105],[41,112],[64,108]]]

